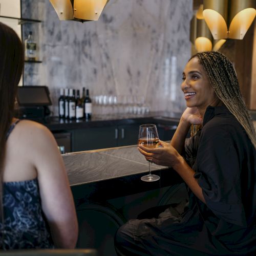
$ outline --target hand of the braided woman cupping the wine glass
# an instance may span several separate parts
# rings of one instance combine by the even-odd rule
[[[140,144],[138,150],[146,158],[151,158],[155,164],[168,167],[179,164],[181,156],[170,143],[160,140],[159,145],[160,147],[157,148],[148,148]]]

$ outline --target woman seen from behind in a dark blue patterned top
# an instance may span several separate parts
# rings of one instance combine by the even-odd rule
[[[0,23],[0,248],[74,248],[78,225],[65,166],[43,125],[13,116],[23,45]]]

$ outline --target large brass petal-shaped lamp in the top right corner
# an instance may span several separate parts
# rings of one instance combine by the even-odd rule
[[[243,39],[256,14],[254,0],[204,0],[203,16],[214,39]]]

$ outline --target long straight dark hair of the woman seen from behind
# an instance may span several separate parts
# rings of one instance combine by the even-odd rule
[[[0,23],[0,214],[3,221],[3,169],[6,135],[11,125],[18,82],[24,68],[24,49],[16,32]]]

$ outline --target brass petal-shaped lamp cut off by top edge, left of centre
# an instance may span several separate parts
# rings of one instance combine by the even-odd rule
[[[49,0],[59,20],[88,22],[98,20],[110,0]]]

